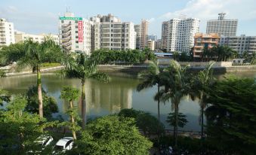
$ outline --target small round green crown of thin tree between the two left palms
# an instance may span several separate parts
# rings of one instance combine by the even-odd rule
[[[77,100],[79,99],[79,90],[73,87],[63,87],[60,98],[68,101]]]

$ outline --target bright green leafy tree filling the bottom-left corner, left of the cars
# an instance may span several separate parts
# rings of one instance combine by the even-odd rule
[[[49,123],[38,114],[24,111],[26,98],[15,96],[7,105],[6,111],[0,111],[0,152],[2,154],[25,154],[35,146],[35,138],[42,135]]]

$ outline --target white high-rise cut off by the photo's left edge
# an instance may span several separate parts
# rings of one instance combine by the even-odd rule
[[[0,18],[0,46],[14,44],[14,23]]]

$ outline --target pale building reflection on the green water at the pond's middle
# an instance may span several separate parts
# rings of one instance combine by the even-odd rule
[[[86,111],[91,109],[100,112],[119,112],[123,108],[132,107],[132,89],[123,84],[103,84],[98,81],[85,82]]]

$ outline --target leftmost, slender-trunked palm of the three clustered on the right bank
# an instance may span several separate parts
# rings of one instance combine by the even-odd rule
[[[161,72],[162,72],[162,69],[159,68],[159,65],[157,65],[156,62],[150,62],[150,66],[147,69],[147,71],[143,71],[139,74],[139,78],[143,79],[143,82],[137,85],[137,91],[144,90],[149,87],[153,87],[157,85],[157,93],[159,93],[160,86],[161,86],[161,80],[160,80]],[[158,141],[159,141],[159,128],[160,128],[159,96],[157,97],[156,100],[157,100],[157,114],[158,114],[158,120],[159,120],[157,135],[158,135]]]

